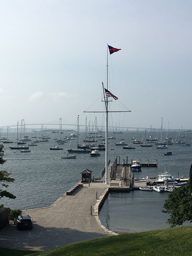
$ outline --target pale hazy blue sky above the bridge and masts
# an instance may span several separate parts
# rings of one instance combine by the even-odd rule
[[[0,0],[0,126],[110,124],[192,128],[192,2]]]

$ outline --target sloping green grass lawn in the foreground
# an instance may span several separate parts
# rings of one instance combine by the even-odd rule
[[[121,234],[68,244],[49,251],[35,252],[31,256],[190,256],[192,226],[168,228],[141,233]],[[4,249],[5,250],[5,249]],[[7,252],[6,256],[27,255]],[[32,251],[28,251],[28,253]],[[1,253],[0,255],[5,256]]]

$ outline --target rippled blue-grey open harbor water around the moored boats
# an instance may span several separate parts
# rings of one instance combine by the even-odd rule
[[[137,138],[141,140],[143,134],[144,130],[138,132]],[[5,135],[2,134],[2,136]],[[30,134],[28,135],[31,136]],[[105,167],[105,151],[100,151],[100,157],[90,157],[89,154],[77,154],[76,159],[60,159],[58,158],[60,154],[63,155],[68,148],[77,147],[77,138],[76,140],[72,140],[70,147],[70,141],[64,145],[60,145],[64,150],[58,151],[50,150],[50,147],[57,145],[55,140],[53,140],[57,134],[47,132],[46,135],[50,135],[52,139],[49,139],[49,142],[40,142],[36,147],[30,147],[30,153],[11,150],[9,147],[16,145],[16,143],[4,144],[4,159],[7,162],[0,166],[0,170],[7,170],[12,173],[11,177],[15,179],[15,182],[9,184],[8,191],[13,193],[16,199],[2,198],[1,204],[12,209],[20,208],[22,210],[50,206],[69,188],[81,180],[81,172],[85,169],[93,171],[92,175],[95,177],[101,176],[101,172]],[[62,138],[69,135],[70,132],[67,132],[62,135]],[[111,135],[113,134],[109,134],[109,136]],[[156,132],[152,132],[152,135],[156,137]],[[176,135],[176,131],[169,133],[169,136],[173,138],[176,138]],[[9,133],[10,139],[15,139],[16,136],[16,133]],[[132,130],[123,134],[115,134],[115,136],[120,139],[122,136],[126,143],[130,143],[132,142],[131,138],[136,136],[136,131]],[[165,136],[166,133],[164,134]],[[187,138],[188,143],[190,143],[192,132],[188,132],[187,136],[190,136]],[[120,141],[120,139],[108,141],[108,159],[111,159],[111,161],[114,161],[116,156],[121,157],[121,162],[123,159],[126,162],[126,156],[128,156],[128,162],[131,159],[141,159],[141,162],[147,162],[147,159],[150,162],[155,162],[156,159],[158,160],[158,168],[142,168],[142,172],[137,173],[136,176],[155,177],[157,173],[164,172],[165,166],[166,171],[169,168],[172,175],[176,176],[177,172],[179,172],[180,176],[189,177],[192,146],[182,147],[181,145],[170,145],[169,150],[174,154],[172,156],[164,156],[163,152],[166,152],[166,149],[156,149],[155,146],[152,148],[142,148],[140,145],[133,144],[136,149],[132,150],[115,146],[115,142]],[[81,135],[80,144],[83,144],[83,140],[84,133]],[[110,150],[110,148],[114,148],[115,150]]]

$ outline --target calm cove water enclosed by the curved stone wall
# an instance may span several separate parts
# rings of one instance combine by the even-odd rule
[[[169,215],[161,212],[169,192],[134,190],[130,193],[110,192],[99,218],[103,226],[114,232],[142,232],[169,228]],[[186,221],[185,225],[192,225]]]

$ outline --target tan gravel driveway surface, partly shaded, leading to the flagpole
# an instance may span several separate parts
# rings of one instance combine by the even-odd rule
[[[100,184],[101,185],[101,184]],[[103,184],[102,184],[103,185]],[[22,250],[48,250],[102,236],[109,236],[94,216],[98,198],[106,187],[78,188],[71,196],[63,195],[51,207],[26,210],[33,229],[17,230],[13,224],[0,230],[0,247]],[[90,207],[92,205],[92,214]]]

